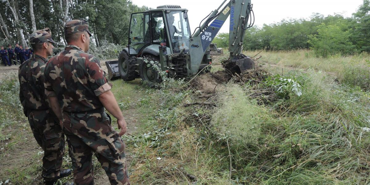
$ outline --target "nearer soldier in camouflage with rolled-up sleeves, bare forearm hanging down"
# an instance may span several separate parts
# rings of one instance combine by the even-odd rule
[[[90,31],[84,20],[65,24],[65,50],[48,61],[45,94],[54,112],[63,111],[63,132],[67,136],[72,159],[74,183],[93,185],[92,154],[95,153],[112,185],[129,185],[125,162],[125,144],[121,135],[126,122],[112,94],[100,61],[89,49]],[[107,109],[117,118],[117,133]],[[61,109],[61,110],[60,110]]]

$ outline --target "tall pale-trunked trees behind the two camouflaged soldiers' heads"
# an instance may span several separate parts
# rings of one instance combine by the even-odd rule
[[[0,45],[28,46],[34,30],[50,28],[56,46],[66,44],[63,32],[68,20],[84,18],[100,43],[127,44],[131,13],[145,11],[129,0],[0,0]]]

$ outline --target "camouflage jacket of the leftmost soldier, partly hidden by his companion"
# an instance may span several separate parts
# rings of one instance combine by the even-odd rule
[[[48,110],[49,104],[45,96],[44,69],[46,59],[40,55],[33,55],[19,67],[18,78],[20,84],[19,100],[24,111]]]

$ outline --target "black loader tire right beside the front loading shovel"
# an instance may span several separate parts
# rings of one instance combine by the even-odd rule
[[[122,51],[118,57],[118,70],[124,81],[135,80],[139,77],[137,57],[129,56],[125,51]]]

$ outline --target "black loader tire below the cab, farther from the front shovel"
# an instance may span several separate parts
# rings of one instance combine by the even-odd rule
[[[147,60],[150,61],[158,61],[159,57],[151,54],[144,55]],[[149,64],[149,66],[148,66]],[[140,64],[140,76],[141,80],[144,82],[145,85],[148,87],[157,87],[159,83],[162,82],[162,78],[158,73],[158,70],[152,67],[152,64],[145,63],[145,61],[142,61]]]

